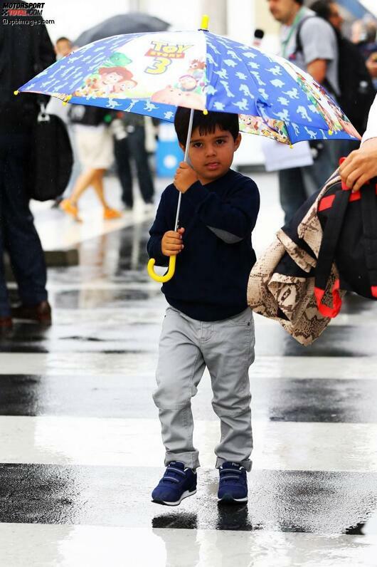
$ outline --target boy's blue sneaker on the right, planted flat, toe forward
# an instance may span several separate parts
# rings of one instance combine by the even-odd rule
[[[248,479],[245,467],[227,461],[221,465],[219,473],[218,502],[247,502]]]

